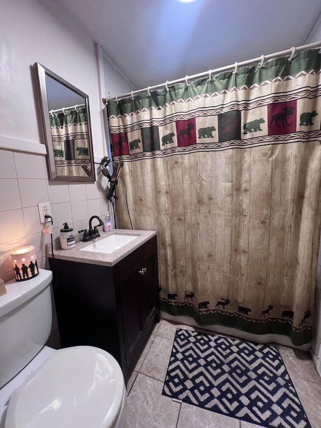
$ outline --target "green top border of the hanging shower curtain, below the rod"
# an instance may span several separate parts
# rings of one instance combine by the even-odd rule
[[[235,86],[253,85],[273,79],[275,76],[296,75],[303,70],[319,70],[321,69],[321,56],[318,55],[318,52],[319,49],[303,51],[294,55],[291,61],[284,57],[276,58],[263,63],[262,68],[259,68],[258,65],[240,67],[235,76],[231,70],[212,76],[211,81],[206,77],[189,82],[189,86],[186,86],[185,83],[178,83],[170,86],[169,91],[165,88],[151,91],[150,96],[148,93],[135,95],[133,101],[131,97],[120,99],[117,102],[107,100],[108,114],[116,116],[129,114],[142,108],[156,108],[180,98],[186,99]]]

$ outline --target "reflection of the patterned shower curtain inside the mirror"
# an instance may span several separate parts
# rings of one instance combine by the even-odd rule
[[[86,109],[65,113],[50,114],[57,175],[91,176]]]

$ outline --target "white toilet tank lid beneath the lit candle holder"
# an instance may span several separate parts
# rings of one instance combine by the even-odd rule
[[[0,297],[0,317],[15,310],[50,285],[52,271],[39,269],[39,275],[27,281],[6,282],[7,293]]]

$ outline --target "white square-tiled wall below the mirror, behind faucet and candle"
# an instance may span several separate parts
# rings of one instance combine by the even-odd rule
[[[0,149],[0,277],[14,277],[9,251],[34,245],[41,268],[48,268],[45,244],[50,235],[42,234],[38,203],[50,202],[54,237],[64,222],[74,231],[88,229],[92,215],[107,210],[107,180],[96,165],[96,183],[52,182],[48,180],[46,157]]]

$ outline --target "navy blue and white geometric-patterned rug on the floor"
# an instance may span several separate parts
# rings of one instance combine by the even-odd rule
[[[163,395],[265,427],[311,427],[273,346],[177,329]]]

